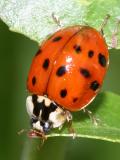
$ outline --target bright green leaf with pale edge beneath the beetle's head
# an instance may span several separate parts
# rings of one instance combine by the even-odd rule
[[[100,93],[87,109],[100,121],[96,126],[86,113],[73,113],[76,136],[120,143],[120,96],[110,92]],[[73,134],[69,134],[67,127],[64,127],[61,131],[57,129],[56,132],[47,135],[54,136],[72,137]]]

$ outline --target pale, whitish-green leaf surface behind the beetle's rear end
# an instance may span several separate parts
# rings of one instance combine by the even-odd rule
[[[88,24],[96,29],[100,28],[105,16],[110,14],[104,32],[110,45],[111,34],[115,30],[117,19],[120,19],[119,4],[120,0],[0,0],[0,18],[10,30],[40,43],[58,29],[51,16],[53,12],[63,26]],[[120,48],[120,32],[117,38],[117,48]]]

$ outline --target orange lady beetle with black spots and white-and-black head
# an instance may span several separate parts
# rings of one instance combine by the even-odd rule
[[[100,32],[90,26],[60,29],[42,43],[30,67],[26,101],[33,129],[47,133],[70,121],[98,94],[109,64]]]

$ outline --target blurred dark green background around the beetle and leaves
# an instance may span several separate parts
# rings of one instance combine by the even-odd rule
[[[37,49],[37,43],[10,32],[0,21],[0,160],[119,160],[118,143],[56,137],[40,148],[38,139],[29,139],[26,133],[17,134],[22,128],[29,128],[26,78]],[[120,94],[120,50],[110,53],[103,90]]]

